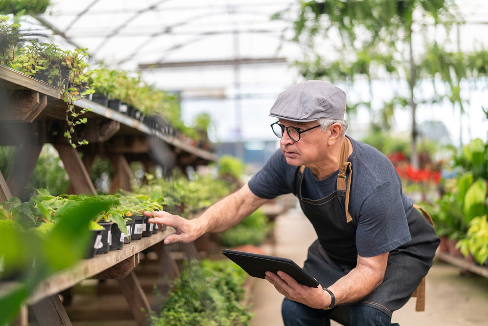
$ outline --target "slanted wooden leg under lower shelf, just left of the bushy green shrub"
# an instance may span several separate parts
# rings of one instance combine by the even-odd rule
[[[151,307],[134,271],[130,272],[125,278],[117,281],[129,307],[132,309],[132,314],[137,325],[148,326],[147,314],[151,310]]]

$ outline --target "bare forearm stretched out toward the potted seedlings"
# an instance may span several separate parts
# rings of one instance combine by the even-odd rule
[[[224,197],[196,219],[200,234],[222,232],[254,212],[267,199],[252,194],[247,183],[237,192]]]

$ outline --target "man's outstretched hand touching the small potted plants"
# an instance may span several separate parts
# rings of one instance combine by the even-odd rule
[[[191,242],[203,233],[201,233],[201,227],[199,226],[197,219],[188,220],[178,215],[173,215],[167,212],[144,212],[145,216],[150,216],[154,218],[149,218],[149,223],[163,224],[166,226],[171,226],[175,228],[176,234],[172,234],[164,239],[164,244],[175,243],[175,242]]]

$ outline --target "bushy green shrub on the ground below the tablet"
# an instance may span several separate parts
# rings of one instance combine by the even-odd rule
[[[251,315],[239,302],[244,279],[237,266],[192,261],[175,279],[152,326],[247,326]]]

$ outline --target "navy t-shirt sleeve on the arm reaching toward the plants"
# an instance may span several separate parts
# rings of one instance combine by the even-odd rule
[[[248,185],[252,193],[258,197],[272,199],[291,193],[290,176],[294,167],[286,164],[280,150],[271,155],[263,169],[254,174]]]

